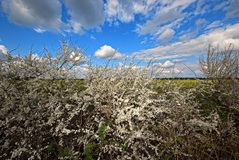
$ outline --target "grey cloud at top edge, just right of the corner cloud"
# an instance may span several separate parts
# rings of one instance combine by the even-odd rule
[[[76,33],[83,33],[83,29],[95,28],[104,22],[103,0],[65,0],[70,24]]]

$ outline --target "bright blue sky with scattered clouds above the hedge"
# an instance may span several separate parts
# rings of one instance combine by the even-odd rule
[[[162,75],[200,76],[198,59],[209,45],[239,50],[239,0],[1,0],[0,59],[62,39],[93,63],[153,59]]]

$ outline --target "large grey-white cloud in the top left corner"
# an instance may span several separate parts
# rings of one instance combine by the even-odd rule
[[[28,27],[36,31],[50,29],[58,31],[65,26],[61,21],[61,3],[49,0],[3,0],[3,11],[9,21]]]

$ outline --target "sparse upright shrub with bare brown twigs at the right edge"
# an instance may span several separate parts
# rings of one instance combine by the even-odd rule
[[[224,50],[209,46],[206,58],[199,59],[201,71],[209,79],[211,99],[239,111],[239,51],[229,45]]]

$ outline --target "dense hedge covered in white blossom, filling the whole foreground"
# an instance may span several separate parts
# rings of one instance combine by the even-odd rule
[[[154,80],[133,60],[73,80],[84,56],[61,44],[0,61],[0,159],[239,159],[238,83]]]

